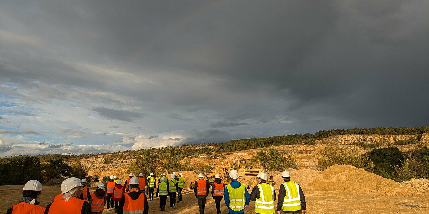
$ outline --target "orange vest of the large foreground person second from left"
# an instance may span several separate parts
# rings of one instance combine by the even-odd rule
[[[84,200],[78,198],[68,198],[54,201],[49,207],[48,214],[80,214]]]

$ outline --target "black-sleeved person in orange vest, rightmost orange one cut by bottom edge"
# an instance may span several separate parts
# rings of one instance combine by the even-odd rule
[[[139,178],[130,179],[130,190],[121,198],[118,214],[148,214],[149,205],[145,193],[139,191]]]

